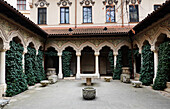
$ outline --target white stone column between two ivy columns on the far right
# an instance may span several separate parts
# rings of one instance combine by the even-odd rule
[[[154,78],[153,82],[155,82],[156,76],[157,76],[157,70],[158,70],[158,51],[154,50]]]

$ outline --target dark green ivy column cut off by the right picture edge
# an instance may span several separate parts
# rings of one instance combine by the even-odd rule
[[[170,41],[164,42],[159,46],[159,63],[157,77],[155,79],[153,89],[164,90],[168,81],[168,73],[170,72]]]

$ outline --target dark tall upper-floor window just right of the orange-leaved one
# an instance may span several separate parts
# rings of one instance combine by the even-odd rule
[[[129,5],[130,22],[139,22],[138,5]]]

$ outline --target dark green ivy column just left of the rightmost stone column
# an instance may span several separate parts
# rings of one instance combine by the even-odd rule
[[[143,65],[141,68],[140,81],[143,85],[150,85],[153,83],[154,77],[154,57],[149,44],[142,49]]]

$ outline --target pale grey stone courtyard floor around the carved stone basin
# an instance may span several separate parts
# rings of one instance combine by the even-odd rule
[[[170,98],[149,88],[133,88],[116,80],[93,82],[95,100],[82,99],[85,80],[60,80],[13,97],[4,109],[170,109]]]

